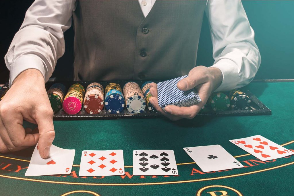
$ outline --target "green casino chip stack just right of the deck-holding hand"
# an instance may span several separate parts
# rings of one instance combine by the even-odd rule
[[[230,99],[222,92],[215,92],[208,98],[207,104],[209,104],[214,111],[228,110],[230,108]]]

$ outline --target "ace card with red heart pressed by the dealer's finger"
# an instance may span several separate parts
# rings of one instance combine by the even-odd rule
[[[75,152],[51,145],[49,158],[43,159],[37,144],[25,176],[70,174]]]

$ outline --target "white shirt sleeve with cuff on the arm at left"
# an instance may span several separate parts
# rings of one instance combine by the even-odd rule
[[[48,81],[64,54],[63,33],[71,27],[75,6],[74,0],[36,0],[29,7],[4,57],[10,70],[9,86],[30,68],[39,70]]]

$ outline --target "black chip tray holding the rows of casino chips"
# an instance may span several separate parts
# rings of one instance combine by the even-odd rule
[[[72,84],[74,83],[80,83],[85,88],[91,83],[89,82],[82,82],[82,81],[76,81],[76,82],[61,82],[63,83],[66,88],[68,89]],[[121,86],[124,86],[128,81],[95,81],[100,83],[103,88],[106,87],[106,85],[110,82],[115,82],[120,84]],[[135,81],[141,86],[145,81]],[[157,82],[157,81],[155,81]],[[50,86],[54,83],[57,83],[57,81],[54,82],[47,82],[46,83],[46,89],[48,90]],[[0,98],[4,96],[4,94],[7,92],[8,89],[8,82],[4,84],[4,86],[0,89]],[[255,97],[250,91],[243,90],[244,93],[246,93],[249,98],[251,99],[251,106],[249,110],[226,110],[226,111],[207,111],[207,112],[201,112],[196,115],[195,118],[201,117],[201,116],[248,116],[248,115],[271,115],[271,110],[267,108],[257,97]],[[81,111],[74,115],[66,114],[63,109],[59,110],[54,116],[53,120],[94,120],[94,119],[117,119],[117,118],[162,118],[163,115],[160,113],[151,113],[149,111],[144,111],[143,113],[138,114],[132,114],[130,113],[126,108],[123,109],[121,113],[117,114],[111,114],[103,108],[103,110],[98,114],[88,114],[84,107],[81,109]]]

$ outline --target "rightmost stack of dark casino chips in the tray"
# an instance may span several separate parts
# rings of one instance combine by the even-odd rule
[[[230,92],[230,101],[233,110],[248,110],[251,103],[251,100],[246,93],[236,89]]]

